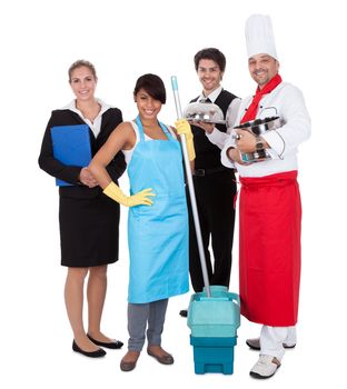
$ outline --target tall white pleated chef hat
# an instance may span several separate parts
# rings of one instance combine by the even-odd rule
[[[248,58],[264,53],[278,60],[270,17],[251,14],[246,21],[245,33]]]

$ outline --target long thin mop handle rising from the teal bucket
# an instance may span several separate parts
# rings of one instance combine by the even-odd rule
[[[178,84],[177,84],[177,77],[176,76],[171,77],[171,84],[172,84],[172,91],[174,91],[174,97],[175,97],[177,118],[181,119],[182,118],[182,110],[181,110],[179,94],[178,94]],[[205,290],[206,290],[207,297],[211,297],[211,290],[210,290],[210,286],[209,286],[208,272],[207,272],[207,267],[206,267],[205,250],[204,250],[202,238],[201,238],[201,229],[200,229],[200,223],[199,223],[199,213],[198,213],[198,209],[197,209],[197,200],[196,200],[196,196],[195,196],[190,162],[189,162],[188,151],[187,151],[186,136],[181,134],[180,139],[182,142],[186,176],[187,176],[187,182],[188,182],[188,188],[189,188],[189,197],[190,197],[194,225],[195,225],[196,235],[197,235],[197,242],[198,242],[198,249],[199,249],[199,257],[200,257],[200,263],[201,263],[201,270],[202,270],[204,285],[205,285]]]

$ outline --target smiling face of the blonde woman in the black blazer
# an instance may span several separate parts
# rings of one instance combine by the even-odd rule
[[[88,67],[73,69],[70,86],[77,100],[88,101],[95,98],[97,78]]]

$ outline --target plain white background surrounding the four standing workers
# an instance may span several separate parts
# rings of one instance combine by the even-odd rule
[[[244,26],[251,13],[271,16],[280,74],[303,90],[313,118],[313,137],[299,154],[304,220],[298,345],[265,385],[323,387],[343,381],[339,351],[346,340],[347,296],[343,1],[12,0],[0,6],[1,388],[262,385],[248,376],[257,353],[245,346],[259,327],[245,319],[235,348],[235,373],[194,373],[189,329],[178,316],[189,295],[172,298],[168,308],[163,347],[174,353],[174,366],[160,366],[143,352],[136,370],[125,373],[119,370],[125,350],[110,350],[100,360],[73,353],[63,305],[66,269],[59,265],[58,193],[53,178],[37,164],[50,111],[72,99],[67,70],[80,58],[96,64],[97,96],[119,107],[126,120],[136,114],[131,96],[136,79],[153,72],[167,86],[168,103],[160,119],[172,123],[170,76],[178,77],[186,104],[200,92],[192,58],[205,47],[217,47],[227,57],[224,87],[240,97],[250,94],[255,83],[247,69]],[[121,186],[127,184],[125,176]],[[109,268],[103,316],[105,332],[123,341],[126,213],[122,209],[121,259]],[[234,257],[230,289],[237,291],[237,243]]]

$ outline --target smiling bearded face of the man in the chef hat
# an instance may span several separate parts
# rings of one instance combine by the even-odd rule
[[[279,63],[268,54],[256,54],[249,58],[248,69],[259,89],[262,89],[278,73]]]

